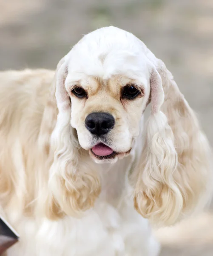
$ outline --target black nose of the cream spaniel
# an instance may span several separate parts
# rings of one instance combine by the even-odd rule
[[[98,136],[108,133],[114,125],[114,117],[105,112],[91,113],[85,119],[86,128]]]

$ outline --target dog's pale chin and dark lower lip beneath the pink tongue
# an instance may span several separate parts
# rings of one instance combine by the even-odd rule
[[[125,153],[113,152],[112,154],[107,156],[98,156],[90,149],[89,155],[94,160],[95,163],[116,163],[117,160],[127,157],[130,154],[130,152],[131,152],[131,149]]]

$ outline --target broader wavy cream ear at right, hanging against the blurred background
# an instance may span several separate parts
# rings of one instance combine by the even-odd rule
[[[151,116],[133,175],[134,205],[145,218],[170,225],[202,209],[211,197],[210,147],[195,113],[165,64],[150,78]]]

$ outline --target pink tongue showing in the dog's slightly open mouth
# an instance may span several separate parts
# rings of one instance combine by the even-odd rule
[[[100,160],[114,158],[118,154],[112,148],[104,145],[103,143],[99,143],[92,147],[91,152],[96,158]]]

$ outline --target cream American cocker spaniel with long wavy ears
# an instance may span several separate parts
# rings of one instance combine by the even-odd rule
[[[204,209],[211,184],[196,114],[133,34],[97,29],[56,72],[0,73],[0,204],[20,234],[8,256],[157,256],[151,225]]]

